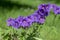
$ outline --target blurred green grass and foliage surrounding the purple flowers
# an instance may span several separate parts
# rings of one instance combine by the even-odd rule
[[[43,25],[33,23],[26,29],[6,25],[9,17],[28,16],[44,3],[60,5],[60,0],[0,0],[0,40],[60,40],[60,15],[53,12]]]

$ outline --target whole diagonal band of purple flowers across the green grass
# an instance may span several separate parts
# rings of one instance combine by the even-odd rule
[[[15,19],[9,18],[7,20],[7,25],[14,28],[26,28],[30,27],[30,25],[32,25],[34,22],[43,24],[51,9],[53,9],[55,14],[60,14],[60,7],[56,6],[55,4],[41,4],[38,6],[38,10],[29,16],[19,16]]]

